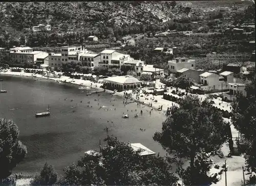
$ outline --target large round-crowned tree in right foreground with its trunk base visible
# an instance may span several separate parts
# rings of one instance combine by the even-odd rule
[[[205,184],[199,177],[207,177],[208,170],[205,168],[202,172],[197,168],[196,157],[204,152],[219,150],[226,141],[223,128],[227,124],[222,114],[211,106],[208,99],[201,102],[198,96],[186,96],[162,125],[162,131],[156,132],[153,139],[174,155],[174,160],[190,160],[187,171],[183,171],[184,174],[179,172],[179,176],[187,185]]]

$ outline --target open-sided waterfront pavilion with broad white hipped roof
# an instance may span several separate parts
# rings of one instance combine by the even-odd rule
[[[135,89],[140,87],[140,84],[141,82],[137,78],[130,75],[108,77],[103,79],[103,85],[111,90]]]

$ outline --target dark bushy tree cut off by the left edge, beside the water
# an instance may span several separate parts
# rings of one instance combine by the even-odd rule
[[[12,169],[27,154],[27,148],[18,140],[18,135],[18,127],[12,120],[0,118],[0,181],[11,175]]]

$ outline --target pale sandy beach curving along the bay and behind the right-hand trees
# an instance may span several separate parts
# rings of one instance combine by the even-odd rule
[[[102,88],[100,88],[102,83],[94,83],[94,82],[91,82],[89,80],[83,80],[83,79],[75,79],[75,78],[73,79],[73,78],[70,78],[68,76],[61,76],[59,78],[53,78],[53,77],[45,77],[45,76],[40,75],[40,74],[32,74],[32,73],[26,73],[26,72],[11,72],[11,71],[0,72],[0,74],[2,74],[2,75],[24,76],[24,77],[32,77],[33,76],[33,78],[35,78],[35,79],[36,78],[38,78],[38,79],[40,79],[40,78],[51,79],[52,81],[55,81],[56,83],[58,83],[58,82],[63,82],[64,83],[65,82],[65,83],[78,85],[78,86],[81,86],[81,87],[92,87],[94,89],[103,90]],[[102,80],[100,79],[99,82],[102,82]],[[161,86],[163,86],[163,84],[160,83],[160,81],[158,80],[156,82],[156,87],[161,88]],[[168,89],[169,93],[172,92],[173,90],[176,90],[176,88],[171,89],[170,87],[168,87],[167,89]],[[151,91],[151,90],[147,90],[146,88],[141,88],[140,89],[140,96],[143,95],[143,97],[139,97],[139,99],[137,99],[137,101],[141,102],[145,106],[150,107],[150,105],[152,104],[152,108],[154,110],[158,110],[159,107],[162,106],[162,110],[160,112],[164,115],[167,111],[167,108],[170,108],[173,105],[176,105],[177,107],[179,107],[178,103],[163,99],[163,95],[154,96],[153,94],[149,94],[148,96],[146,96],[144,93],[142,93],[145,90],[147,92]],[[179,89],[179,91],[185,92],[185,90],[181,90],[181,89]],[[110,90],[106,90],[106,92],[113,93],[113,91],[110,91]],[[115,95],[124,97],[125,93],[128,93],[128,94],[131,93],[131,97],[134,100],[136,100],[136,94],[133,94],[132,90],[116,92]],[[189,93],[188,93],[188,95],[189,95]],[[204,95],[198,95],[198,96],[202,99],[205,99],[208,95],[204,94]],[[155,102],[155,100],[157,100],[157,102]],[[214,100],[215,104],[219,105],[219,107],[223,107],[223,108],[225,107],[225,108],[227,108],[227,110],[230,110],[230,105],[231,105],[230,103],[221,101],[221,99],[219,97],[217,99],[212,99],[212,100]],[[224,118],[224,120],[226,122],[231,123],[230,119]],[[231,124],[231,132],[232,132],[232,137],[233,138],[238,137],[238,131],[233,127],[232,124]],[[226,160],[227,165],[229,166],[228,171],[227,171],[227,176],[229,177],[229,179],[227,179],[228,180],[227,185],[234,185],[234,186],[240,185],[241,180],[243,179],[242,166],[244,166],[244,161],[245,161],[243,156],[233,156],[233,157],[230,157],[230,158],[227,157],[227,154],[229,152],[227,144],[223,145],[222,151],[224,153],[224,158],[219,158],[218,156],[214,156],[214,157],[211,157],[211,159],[214,160],[215,164],[223,163]],[[225,176],[225,174],[223,173],[222,174],[222,179],[219,182],[217,182],[216,185],[223,185],[224,184],[224,182],[225,182],[225,179],[224,179],[225,177],[224,176]],[[245,177],[248,178],[248,175],[245,175]],[[22,185],[22,184],[23,184],[23,182],[21,182],[20,185]]]

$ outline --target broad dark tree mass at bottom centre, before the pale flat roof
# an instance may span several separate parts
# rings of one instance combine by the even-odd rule
[[[140,156],[130,144],[114,137],[101,152],[86,154],[77,165],[65,168],[61,185],[172,185],[177,178],[165,158]]]

